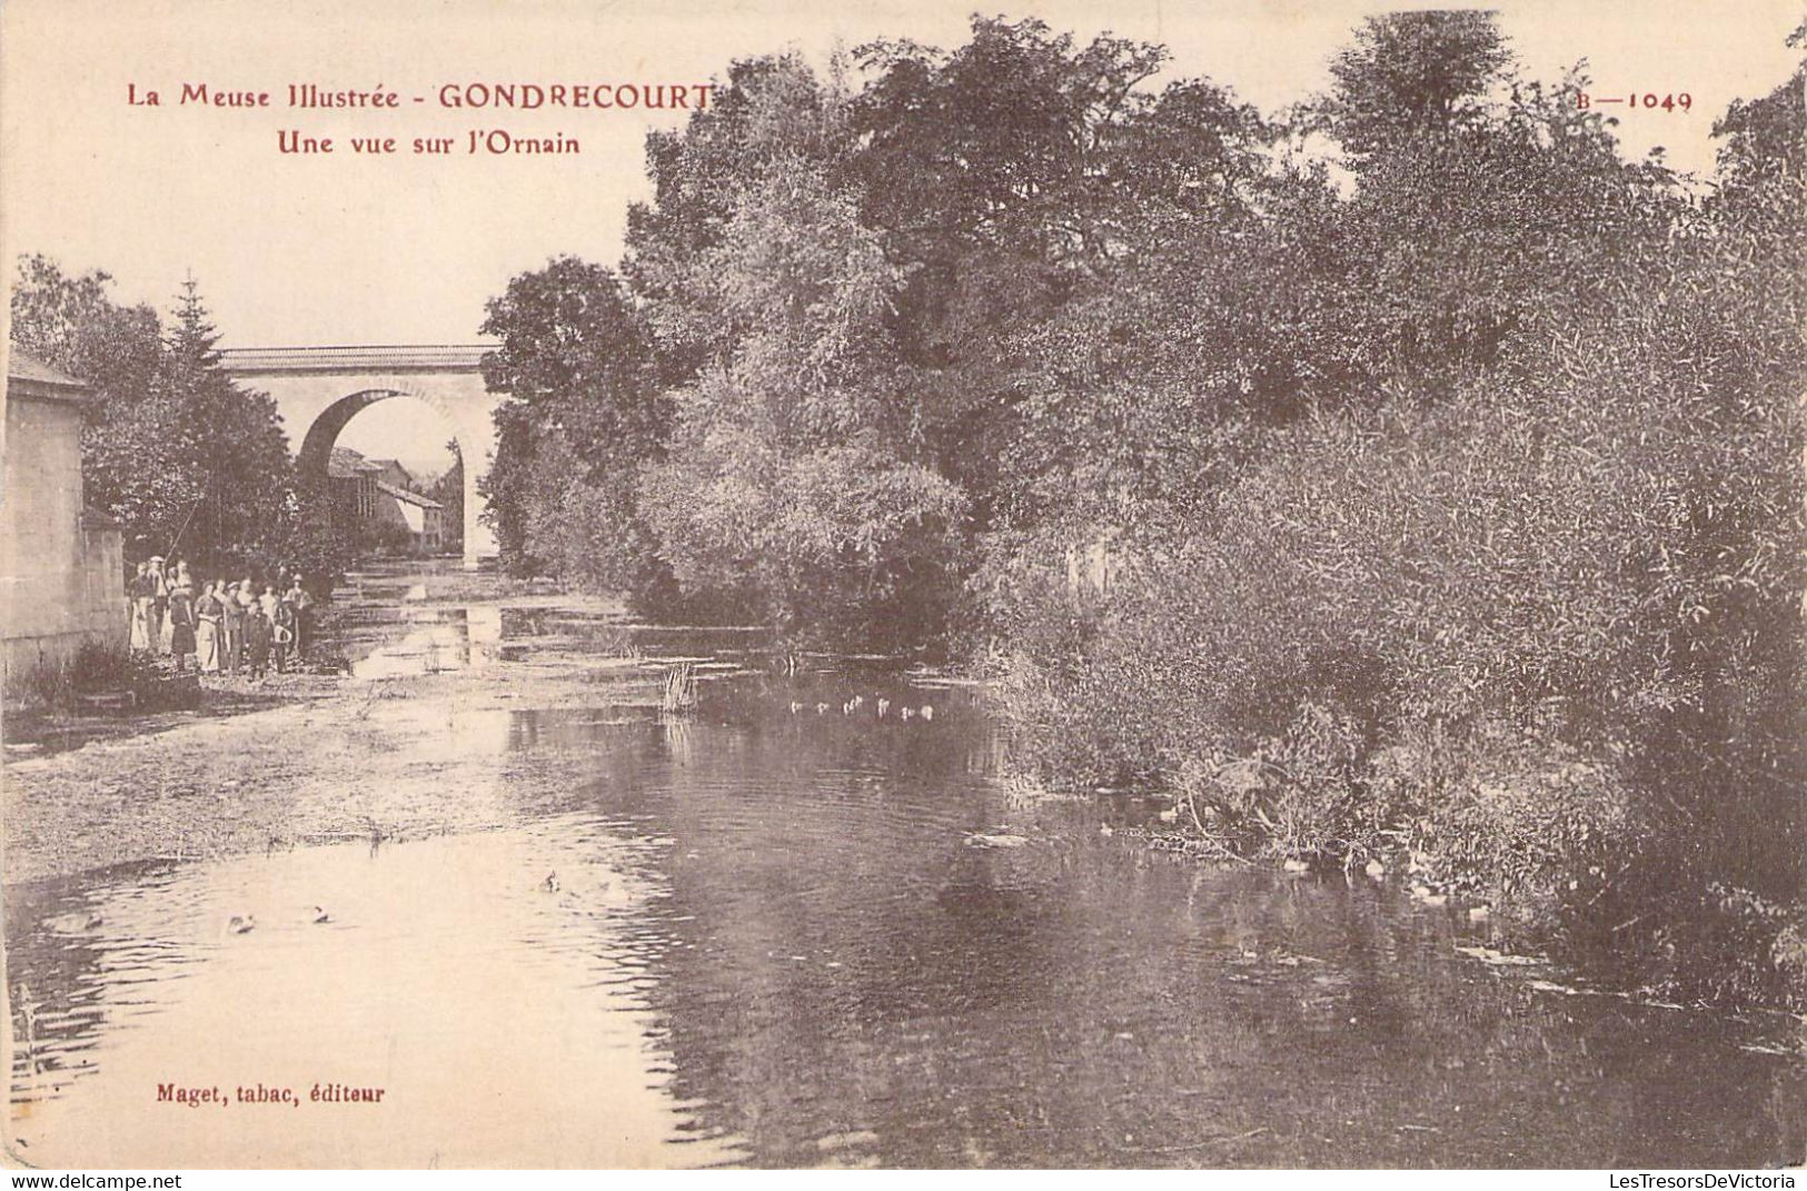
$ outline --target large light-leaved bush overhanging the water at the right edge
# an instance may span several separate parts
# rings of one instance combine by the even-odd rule
[[[1158,784],[1241,855],[1409,844],[1547,938],[1773,990],[1708,974],[1718,936],[1794,954],[1715,884],[1802,895],[1807,369],[1747,249],[1679,242],[1534,376],[1272,430],[1104,598],[1014,542],[979,593],[1044,779]]]

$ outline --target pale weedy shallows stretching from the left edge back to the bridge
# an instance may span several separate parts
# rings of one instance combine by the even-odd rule
[[[450,649],[428,642],[432,658],[410,643],[423,625],[522,602],[538,614],[618,611],[488,573],[378,567],[323,609],[323,661],[307,671],[206,676],[186,707],[163,710],[9,714],[7,884],[511,822],[531,808],[499,792],[557,786],[558,757],[497,750],[510,708],[584,705],[598,681],[609,701],[658,705],[658,674],[625,658],[495,665],[501,642],[473,645],[464,627]],[[526,768],[548,781],[513,781]]]

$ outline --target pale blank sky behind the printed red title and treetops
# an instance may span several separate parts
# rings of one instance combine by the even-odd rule
[[[958,45],[976,0],[5,0],[0,5],[0,248],[105,269],[116,298],[168,309],[195,277],[228,347],[472,343],[484,302],[560,253],[614,264],[643,199],[643,139],[681,114],[445,110],[445,83],[687,83],[739,56],[909,36]],[[983,5],[1055,29],[1166,43],[1164,78],[1209,76],[1267,112],[1321,90],[1364,14],[1355,0],[1043,0]],[[1709,170],[1709,127],[1798,61],[1802,0],[1503,0],[1527,74],[1588,58],[1596,92],[1690,92],[1690,112],[1624,112],[1630,155]],[[1162,80],[1156,80],[1162,81]],[[177,105],[184,83],[269,92],[271,108]],[[293,110],[291,83],[389,89],[399,110]],[[159,107],[130,105],[157,90]],[[425,103],[414,103],[421,96]],[[470,130],[576,137],[564,155],[468,155]],[[278,134],[331,155],[278,154]],[[343,152],[394,136],[396,155]],[[408,152],[452,136],[457,152]],[[370,407],[347,428],[407,414]],[[369,421],[367,421],[369,419]],[[432,434],[430,428],[423,428]],[[374,446],[378,454],[399,454]],[[403,455],[407,461],[407,455]]]

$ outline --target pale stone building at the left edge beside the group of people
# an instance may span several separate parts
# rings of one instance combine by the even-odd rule
[[[126,647],[125,544],[89,511],[81,423],[89,389],[13,351],[0,437],[0,683],[61,667],[83,645]]]

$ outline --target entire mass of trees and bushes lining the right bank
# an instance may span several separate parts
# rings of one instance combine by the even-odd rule
[[[1684,179],[1485,13],[1364,22],[1274,119],[1164,65],[737,63],[620,278],[492,307],[508,557],[963,642],[1048,783],[1807,996],[1807,80]]]

